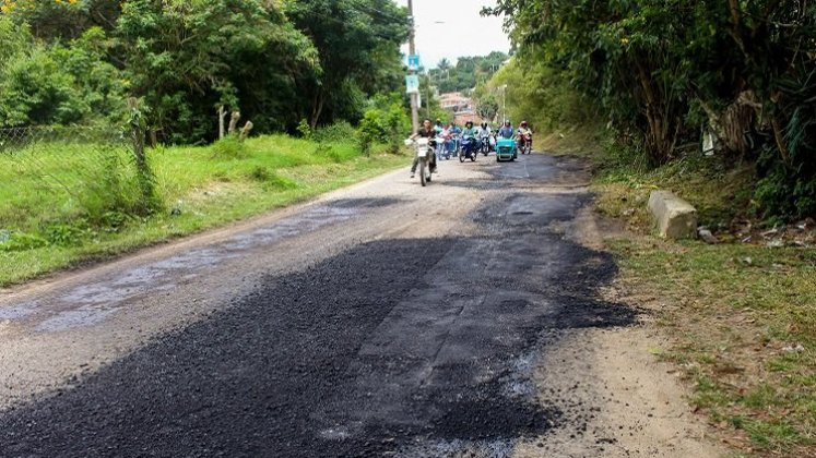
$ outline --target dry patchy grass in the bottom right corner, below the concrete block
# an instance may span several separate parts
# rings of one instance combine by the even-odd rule
[[[611,248],[627,292],[657,301],[676,339],[663,357],[694,383],[693,403],[746,447],[816,453],[816,254],[651,238]]]

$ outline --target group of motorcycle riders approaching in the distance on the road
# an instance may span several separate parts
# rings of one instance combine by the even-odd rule
[[[418,167],[419,181],[424,186],[430,182],[431,173],[436,172],[437,160],[459,157],[460,162],[465,159],[475,161],[478,153],[487,156],[490,152],[496,152],[496,161],[516,160],[519,153],[532,153],[533,133],[527,121],[521,122],[518,131],[513,130],[510,121],[505,121],[500,129],[494,131],[487,123],[474,129],[472,121],[460,129],[453,123],[446,128],[437,119],[431,126],[430,120],[426,119],[422,129],[405,141],[405,145],[416,145],[411,178],[414,178]]]

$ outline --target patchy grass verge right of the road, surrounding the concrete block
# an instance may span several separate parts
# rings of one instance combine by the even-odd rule
[[[596,160],[596,208],[628,229],[607,243],[619,288],[672,336],[660,358],[684,370],[691,403],[746,456],[816,456],[816,252],[728,236],[750,217],[749,165],[691,155],[647,170],[608,148]],[[724,243],[657,238],[654,189],[694,204]]]

